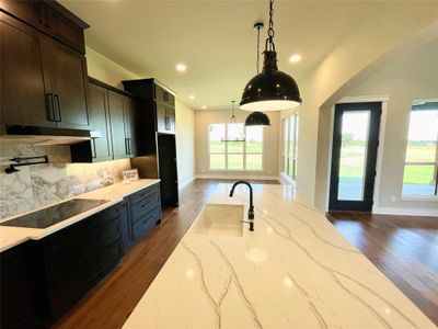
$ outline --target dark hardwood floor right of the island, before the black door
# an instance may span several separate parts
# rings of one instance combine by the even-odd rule
[[[438,217],[331,212],[327,218],[438,326]]]

